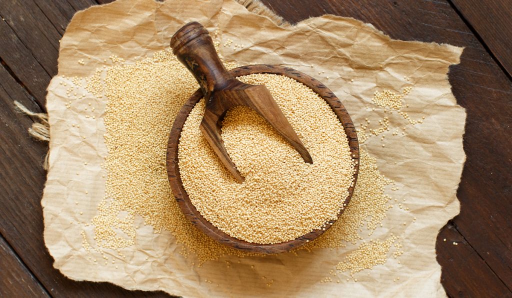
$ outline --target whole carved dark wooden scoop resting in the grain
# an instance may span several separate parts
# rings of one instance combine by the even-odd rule
[[[226,71],[215,51],[208,31],[198,22],[189,22],[170,40],[170,47],[178,59],[194,75],[206,100],[206,109],[200,129],[221,162],[239,182],[244,177],[231,161],[221,139],[222,119],[234,106],[247,106],[257,111],[268,123],[312,164],[311,155],[298,138],[278,104],[264,85],[240,82]]]

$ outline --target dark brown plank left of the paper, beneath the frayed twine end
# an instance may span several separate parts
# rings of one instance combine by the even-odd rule
[[[131,292],[107,283],[74,282],[53,268],[42,238],[40,205],[46,179],[41,164],[48,146],[30,139],[27,128],[32,121],[14,111],[13,100],[38,109],[25,89],[0,66],[0,233],[20,259],[54,296],[167,296]]]

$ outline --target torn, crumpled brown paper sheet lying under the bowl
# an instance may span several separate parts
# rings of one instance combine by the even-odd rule
[[[408,213],[397,208],[388,211],[383,228],[372,236],[400,235],[404,254],[399,259],[390,258],[384,265],[357,273],[357,282],[347,281],[350,272],[338,271],[340,283],[321,280],[357,246],[299,251],[297,256],[226,256],[197,267],[194,256],[184,258],[178,253],[181,246],[173,235],[154,234],[140,217],[136,218],[140,226],[136,244],[122,249],[125,259],[117,251],[95,250],[89,223],[104,196],[106,173],[101,164],[108,152],[101,116],[107,99],[77,87],[85,96],[83,106],[67,108],[67,87],[60,82],[69,86],[71,77],[93,75],[113,54],[130,63],[168,48],[170,36],[190,20],[202,22],[210,32],[219,30],[222,40],[244,45],[237,50],[221,47],[227,61],[286,65],[317,77],[343,101],[356,127],[366,118],[377,122],[385,116],[380,108],[368,108],[376,107],[371,103],[375,91],[399,93],[413,86],[407,111],[413,119],[426,116],[424,123],[390,137],[386,148],[379,137],[362,145],[377,158],[381,172],[396,181],[399,190],[392,196],[406,198],[410,208]],[[45,242],[54,266],[74,280],[107,281],[186,297],[445,296],[435,240],[439,228],[459,212],[456,189],[465,159],[465,112],[456,104],[446,73],[459,62],[461,52],[451,45],[392,40],[371,25],[332,15],[279,27],[232,0],[118,0],[77,13],[61,40],[59,75],[48,87],[51,139],[41,203]],[[81,59],[84,65],[77,63]],[[100,111],[94,121],[80,113],[91,101]],[[392,129],[407,124],[396,112],[388,116]],[[417,218],[414,223],[412,217]],[[115,266],[110,262],[114,258]],[[225,261],[230,261],[229,268]],[[399,282],[394,281],[397,277]],[[269,280],[273,280],[271,286]]]

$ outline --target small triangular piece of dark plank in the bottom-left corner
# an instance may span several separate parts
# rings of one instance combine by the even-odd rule
[[[0,297],[50,297],[0,236]]]

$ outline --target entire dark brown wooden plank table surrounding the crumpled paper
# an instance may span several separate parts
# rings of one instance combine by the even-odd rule
[[[30,139],[32,121],[13,109],[17,100],[45,111],[58,41],[69,20],[103,2],[110,1],[0,0],[0,296],[166,296],[71,281],[52,267],[40,205],[48,147]],[[350,16],[392,38],[465,47],[449,79],[467,111],[467,160],[457,192],[460,215],[437,238],[441,282],[449,296],[512,297],[512,1],[263,2],[291,22]]]

